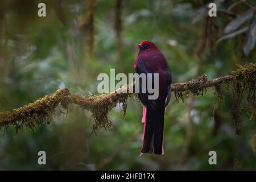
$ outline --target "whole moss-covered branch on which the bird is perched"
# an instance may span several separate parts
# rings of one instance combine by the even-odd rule
[[[184,96],[199,96],[211,87],[214,87],[217,96],[221,97],[220,84],[226,83],[232,86],[234,96],[234,119],[241,121],[241,99],[243,93],[247,91],[247,101],[251,107],[251,115],[255,115],[255,84],[256,84],[256,64],[238,65],[240,68],[233,71],[230,75],[208,80],[207,75],[203,75],[195,80],[180,82],[171,85],[172,92],[175,93],[176,100],[183,100]],[[119,92],[134,88],[134,83],[123,86],[114,93],[102,94],[100,96],[82,96],[70,93],[67,88],[59,89],[54,94],[45,96],[40,100],[30,103],[26,106],[0,113],[0,127],[15,125],[19,129],[26,124],[28,127],[34,127],[35,123],[47,123],[52,121],[56,107],[60,104],[64,109],[68,109],[71,104],[76,104],[82,109],[92,113],[94,120],[93,130],[96,132],[101,127],[105,129],[112,126],[108,119],[108,113],[118,103],[122,103],[123,114],[125,116],[127,107],[127,98],[134,97],[135,94]],[[118,94],[119,93],[119,94]]]

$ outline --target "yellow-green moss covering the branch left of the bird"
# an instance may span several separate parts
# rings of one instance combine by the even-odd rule
[[[132,85],[133,86],[133,85]],[[128,89],[129,85],[125,88]],[[100,96],[82,96],[79,94],[71,94],[68,89],[59,89],[54,94],[43,97],[26,106],[0,113],[0,127],[14,125],[16,131],[22,129],[24,125],[33,129],[35,124],[39,125],[52,122],[55,115],[56,107],[61,105],[64,109],[68,109],[69,105],[77,104],[85,110],[92,113],[93,130],[97,133],[98,129],[104,127],[108,129],[112,127],[112,122],[108,119],[108,113],[118,103],[122,104],[123,118],[126,115],[127,98],[134,97],[135,94],[126,94],[117,92],[110,94],[102,94]]]

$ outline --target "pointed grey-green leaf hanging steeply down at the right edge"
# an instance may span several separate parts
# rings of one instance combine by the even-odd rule
[[[245,55],[249,55],[250,51],[254,48],[256,43],[256,15],[254,15],[253,22],[250,25],[249,31],[245,38],[245,44],[243,45],[243,52]]]

